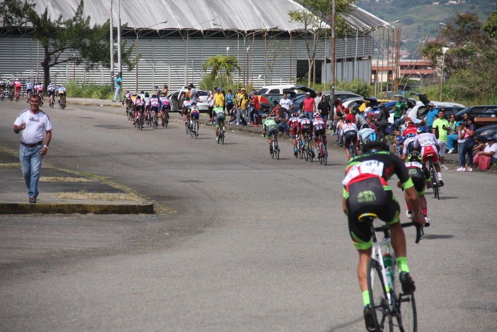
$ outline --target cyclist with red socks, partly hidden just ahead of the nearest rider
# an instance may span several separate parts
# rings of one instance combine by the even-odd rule
[[[424,226],[428,227],[430,226],[430,221],[427,217],[428,208],[426,204],[426,197],[424,197],[424,188],[431,188],[430,172],[424,164],[421,164],[421,154],[417,151],[413,151],[409,154],[406,168],[411,176],[411,179],[413,180],[414,188],[416,189],[421,201],[421,213],[424,217]],[[398,181],[397,186],[402,188],[402,183]],[[408,216],[408,218],[412,218],[413,211],[411,210],[411,204],[409,203],[407,193],[405,193],[405,198],[407,205],[406,216]]]

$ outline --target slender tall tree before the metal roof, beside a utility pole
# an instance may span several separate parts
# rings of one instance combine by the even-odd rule
[[[288,14],[294,21],[304,24],[304,39],[306,44],[309,71],[307,85],[311,85],[311,74],[316,61],[317,45],[319,40],[328,34],[331,36],[332,7],[330,0],[302,0],[302,8],[290,11]],[[351,3],[355,0],[336,0],[336,36],[344,37],[349,28],[345,19],[339,14],[352,10]]]

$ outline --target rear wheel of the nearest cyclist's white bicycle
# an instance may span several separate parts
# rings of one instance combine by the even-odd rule
[[[380,264],[370,258],[368,263],[368,290],[371,301],[371,314],[376,331],[383,331],[388,316],[388,298],[385,290],[385,280],[381,275]]]

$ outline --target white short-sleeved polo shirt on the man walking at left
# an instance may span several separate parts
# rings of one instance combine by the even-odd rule
[[[17,115],[14,126],[19,127],[25,123],[26,128],[21,130],[21,142],[26,144],[35,144],[43,141],[43,131],[52,130],[52,122],[47,113],[42,110],[38,113],[32,113],[31,110],[25,109]]]

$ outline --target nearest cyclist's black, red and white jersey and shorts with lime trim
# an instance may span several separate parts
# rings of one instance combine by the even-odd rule
[[[399,221],[400,206],[387,182],[394,173],[404,189],[414,186],[402,160],[390,152],[362,154],[347,164],[343,198],[350,237],[357,249],[371,248],[371,230],[367,223],[359,222],[360,215],[374,213],[390,225]]]

